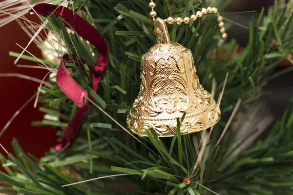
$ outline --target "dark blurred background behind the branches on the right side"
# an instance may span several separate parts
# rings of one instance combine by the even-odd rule
[[[273,2],[274,0],[234,0],[231,6],[227,9],[227,12],[256,11],[256,13],[253,14],[241,14],[243,20],[233,20],[242,25],[249,26],[251,17],[254,16],[257,18],[262,7],[265,8],[265,14],[267,14],[269,7],[273,5]],[[288,2],[288,0],[283,0],[283,2]],[[227,33],[230,38],[237,39],[242,46],[245,46],[249,40],[248,30],[245,30],[237,25],[232,25]],[[280,63],[275,72],[289,66],[292,66],[292,64],[288,60],[283,61]],[[263,96],[261,101],[266,102],[271,108],[271,112],[273,113],[275,120],[280,119],[290,99],[293,98],[293,73],[288,73],[279,78],[273,79],[267,86],[264,87],[264,90],[271,92],[271,94]]]

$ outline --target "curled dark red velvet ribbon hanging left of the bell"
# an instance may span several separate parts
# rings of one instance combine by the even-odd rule
[[[35,5],[30,12],[36,12],[44,17],[54,13],[56,17],[60,17],[63,20],[65,27],[72,28],[79,36],[88,40],[99,50],[100,58],[96,59],[97,62],[94,66],[89,66],[91,72],[93,72],[92,89],[97,92],[101,77],[108,63],[108,46],[103,36],[87,21],[63,6],[40,3]],[[68,55],[64,55],[63,59],[68,60]],[[63,59],[60,62],[56,82],[64,94],[77,104],[79,109],[66,128],[62,142],[56,145],[55,149],[57,151],[60,151],[67,144],[70,146],[74,142],[92,106],[90,102],[86,101],[87,91],[71,78]]]

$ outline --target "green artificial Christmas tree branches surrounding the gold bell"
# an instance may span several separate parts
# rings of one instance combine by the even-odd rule
[[[157,17],[163,19],[184,19],[205,12],[204,7],[217,7],[221,14],[228,4],[223,0],[154,2]],[[51,3],[30,8],[42,24],[28,28],[36,36],[46,29],[56,37],[57,44],[50,49],[66,49],[66,55],[60,54],[60,64],[15,56],[39,61],[56,74],[49,86],[38,89],[42,90],[38,101],[47,106],[42,112],[51,119],[33,125],[59,128],[60,139],[40,161],[26,156],[14,140],[16,156],[10,154],[7,160],[0,156],[6,171],[0,173],[0,179],[7,183],[2,193],[292,194],[292,105],[270,136],[255,145],[252,143],[262,126],[238,129],[231,124],[237,113],[250,113],[252,105],[261,106],[255,101],[263,94],[262,87],[278,76],[270,75],[272,70],[284,59],[292,61],[293,1],[285,8],[276,1],[267,17],[263,12],[257,20],[252,17],[250,41],[240,54],[235,40],[220,40],[217,15],[168,26],[171,41],[190,49],[196,75],[217,100],[222,119],[199,133],[181,135],[183,114],[176,119],[174,137],[162,138],[152,128],[146,130],[147,137],[133,135],[126,128],[127,115],[140,90],[141,57],[156,43],[148,0],[71,0],[67,8],[60,0]],[[75,14],[81,10],[84,19]],[[224,20],[230,21],[230,17],[223,14]],[[224,35],[224,30],[221,33]],[[246,115],[239,120],[239,126],[266,118],[256,113],[257,117]],[[244,147],[248,139],[250,145]]]

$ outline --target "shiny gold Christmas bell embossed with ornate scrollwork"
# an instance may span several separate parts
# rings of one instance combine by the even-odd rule
[[[213,126],[220,109],[199,83],[191,51],[170,41],[164,20],[157,18],[154,30],[157,44],[142,57],[140,92],[127,116],[128,128],[140,136],[152,128],[159,137],[171,137],[184,113],[181,134]]]

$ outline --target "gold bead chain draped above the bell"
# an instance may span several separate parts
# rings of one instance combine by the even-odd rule
[[[150,0],[148,6],[151,8],[151,12],[149,13],[149,16],[153,18],[153,20],[155,20],[155,17],[157,16],[157,12],[154,11],[154,8],[156,7],[156,3],[153,0]],[[206,14],[216,14],[217,15],[217,20],[218,20],[218,26],[220,28],[220,33],[221,33],[221,37],[222,39],[227,39],[228,35],[225,32],[226,29],[224,27],[224,22],[223,22],[223,17],[220,16],[218,9],[215,7],[208,7],[208,8],[202,8],[201,11],[196,12],[196,14],[192,14],[190,17],[185,17],[184,19],[182,19],[181,17],[176,17],[173,18],[171,16],[169,16],[167,19],[165,19],[164,21],[167,22],[168,24],[173,24],[174,22],[176,22],[177,24],[182,24],[182,23],[186,23],[188,24],[190,22],[190,20],[195,21],[196,19],[201,18],[203,15]]]

